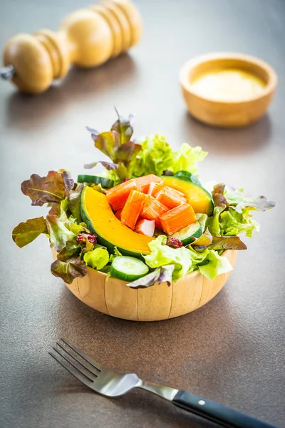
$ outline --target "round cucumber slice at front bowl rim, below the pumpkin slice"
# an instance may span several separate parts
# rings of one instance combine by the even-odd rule
[[[110,267],[110,275],[123,281],[135,281],[138,278],[145,276],[148,272],[148,267],[142,260],[134,257],[119,255],[114,258]]]

